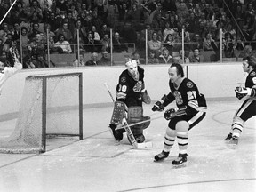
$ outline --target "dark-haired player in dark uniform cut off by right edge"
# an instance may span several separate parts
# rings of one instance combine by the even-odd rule
[[[246,97],[242,106],[236,111],[229,132],[225,139],[228,144],[237,145],[240,134],[243,132],[244,123],[256,116],[256,58],[248,56],[243,58],[243,70],[248,73],[245,87],[236,87],[236,97],[241,100]]]

